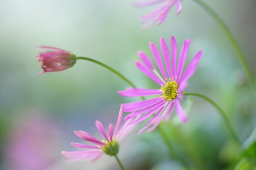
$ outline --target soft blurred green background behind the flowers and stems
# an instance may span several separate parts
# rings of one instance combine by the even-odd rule
[[[227,23],[256,75],[256,1],[204,0]],[[233,47],[220,27],[192,0],[182,1],[161,26],[140,30],[141,15],[154,7],[136,9],[131,0],[0,0],[0,169],[3,170],[118,170],[112,157],[98,163],[66,162],[62,150],[83,142],[73,130],[100,136],[95,121],[115,123],[119,104],[136,101],[116,91],[128,87],[116,75],[94,63],[78,61],[63,72],[38,75],[35,58],[40,45],[55,46],[95,58],[126,75],[137,86],[157,87],[134,66],[137,51],[150,53],[148,43],[174,35],[180,50],[191,38],[188,60],[203,50],[187,91],[217,101],[229,114],[241,141],[256,124],[256,98]],[[188,62],[187,62],[188,63]],[[186,98],[185,98],[186,99]],[[189,122],[172,119],[166,132],[175,149],[197,169],[225,169],[234,146],[218,112],[192,98]],[[189,101],[192,101],[189,100]],[[186,100],[184,100],[186,101]],[[187,102],[185,105],[191,105]],[[174,114],[175,115],[175,114]],[[144,123],[140,124],[143,126]],[[120,158],[128,170],[179,169],[180,164],[155,130],[121,144]]]

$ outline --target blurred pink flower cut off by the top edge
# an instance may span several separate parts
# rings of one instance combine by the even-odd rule
[[[181,11],[180,0],[144,0],[141,2],[137,2],[134,5],[137,7],[144,7],[157,3],[160,4],[157,9],[141,17],[141,21],[145,22],[145,24],[143,25],[143,29],[147,29],[156,21],[157,25],[160,25],[165,20],[167,14],[169,13],[172,6],[175,5],[175,3],[177,3],[177,14],[179,14]]]

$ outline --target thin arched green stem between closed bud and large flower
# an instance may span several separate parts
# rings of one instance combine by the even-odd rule
[[[136,88],[136,86],[128,80],[128,78],[126,78],[124,75],[122,75],[120,72],[118,72],[116,69],[113,69],[111,66],[108,66],[105,63],[102,63],[100,61],[94,60],[92,58],[88,58],[88,57],[76,57],[76,60],[87,60],[87,61],[91,61],[93,63],[99,64],[100,66],[105,67],[106,69],[110,70],[111,72],[113,72],[114,74],[118,75],[120,78],[122,78],[124,81],[126,81],[128,84],[130,84],[132,87]],[[144,97],[141,97],[143,100],[145,100]]]

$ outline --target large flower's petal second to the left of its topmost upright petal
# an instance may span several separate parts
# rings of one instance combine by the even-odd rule
[[[150,47],[150,50],[151,50],[151,53],[157,63],[157,66],[158,68],[160,69],[160,72],[162,73],[163,75],[163,78],[166,79],[168,78],[167,75],[166,75],[166,71],[164,69],[164,66],[163,66],[163,61],[162,61],[162,58],[161,58],[161,55],[157,49],[157,46],[154,44],[154,43],[149,43],[149,47]]]

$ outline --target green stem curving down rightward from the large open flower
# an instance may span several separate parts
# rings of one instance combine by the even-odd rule
[[[210,104],[212,104],[212,106],[214,106],[221,114],[222,118],[224,119],[224,122],[227,126],[227,129],[232,137],[232,139],[239,144],[240,146],[240,141],[239,138],[237,137],[236,133],[234,132],[234,130],[231,127],[230,121],[227,118],[227,114],[224,112],[223,109],[221,109],[221,107],[218,106],[218,104],[216,104],[214,101],[212,101],[211,99],[207,98],[205,95],[201,95],[199,93],[195,93],[195,92],[184,92],[184,95],[194,95],[194,96],[198,96],[200,98],[203,98],[204,100],[208,101]]]

